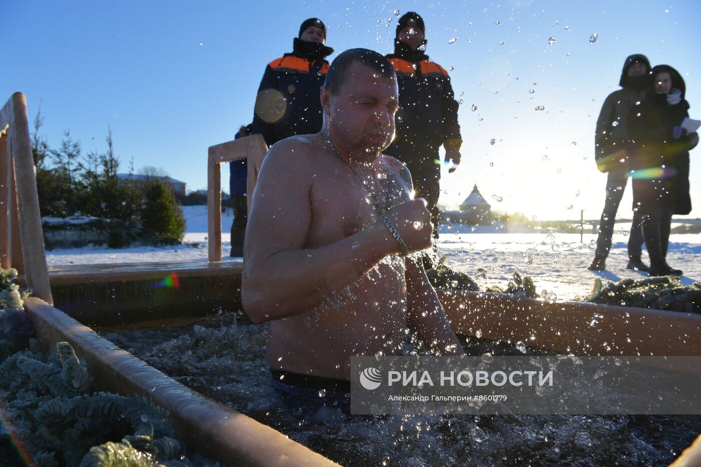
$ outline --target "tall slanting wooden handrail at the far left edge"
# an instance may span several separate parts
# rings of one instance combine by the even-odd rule
[[[53,303],[36,193],[27,98],[22,93],[14,93],[0,110],[0,205],[0,265],[18,269],[34,290],[34,297]]]

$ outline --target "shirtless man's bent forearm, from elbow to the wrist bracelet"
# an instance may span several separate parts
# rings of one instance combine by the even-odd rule
[[[259,264],[245,264],[246,313],[257,323],[304,313],[388,255],[395,247],[389,235],[385,226],[374,224],[330,245],[283,250]]]

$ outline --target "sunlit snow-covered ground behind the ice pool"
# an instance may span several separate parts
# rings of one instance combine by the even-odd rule
[[[184,214],[187,233],[184,245],[175,247],[132,247],[112,250],[106,246],[90,246],[53,250],[46,253],[49,266],[57,264],[103,264],[129,262],[182,262],[207,258],[207,207],[186,206]],[[224,260],[231,248],[230,234],[233,216],[222,216],[222,250]],[[616,224],[616,231],[629,226]],[[479,233],[470,226],[441,225],[439,254],[446,255],[446,263],[458,271],[470,274],[481,286],[505,287],[513,273],[531,276],[538,292],[554,292],[558,299],[573,299],[592,289],[594,278],[620,280],[640,278],[646,273],[625,269],[627,234],[614,234],[611,255],[606,271],[592,272],[587,265],[594,257],[596,236],[584,234],[494,234]],[[647,262],[646,252],[643,259]],[[684,271],[682,283],[701,280],[701,234],[672,235],[667,262]],[[484,273],[477,269],[484,269]]]

